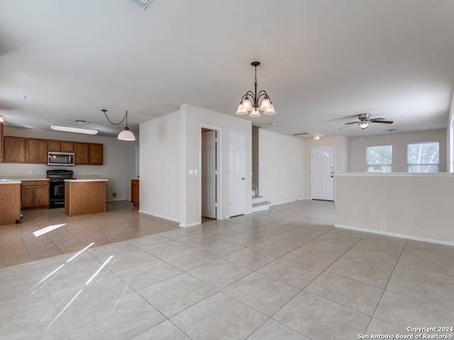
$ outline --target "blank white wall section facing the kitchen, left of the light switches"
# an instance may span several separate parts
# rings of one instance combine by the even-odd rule
[[[140,212],[180,221],[179,111],[148,122],[140,129]]]

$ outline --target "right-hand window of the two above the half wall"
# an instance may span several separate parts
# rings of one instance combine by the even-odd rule
[[[409,172],[438,172],[440,152],[438,142],[411,143],[407,147]]]

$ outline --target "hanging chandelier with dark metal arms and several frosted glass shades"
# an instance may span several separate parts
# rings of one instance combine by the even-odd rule
[[[249,117],[260,117],[260,111],[263,111],[264,115],[275,115],[275,107],[272,105],[270,96],[267,95],[267,92],[262,90],[257,93],[257,67],[260,65],[260,62],[251,62],[250,64],[255,67],[254,92],[248,91],[241,97],[236,114],[247,115],[250,112]],[[260,101],[260,98],[262,98],[262,102],[259,106],[258,102]]]

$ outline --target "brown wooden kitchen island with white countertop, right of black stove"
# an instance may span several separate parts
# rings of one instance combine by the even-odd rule
[[[106,212],[108,179],[65,179],[65,213],[68,216]]]

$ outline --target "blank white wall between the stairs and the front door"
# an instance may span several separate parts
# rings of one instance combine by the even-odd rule
[[[272,205],[304,198],[304,140],[258,130],[260,196]]]

